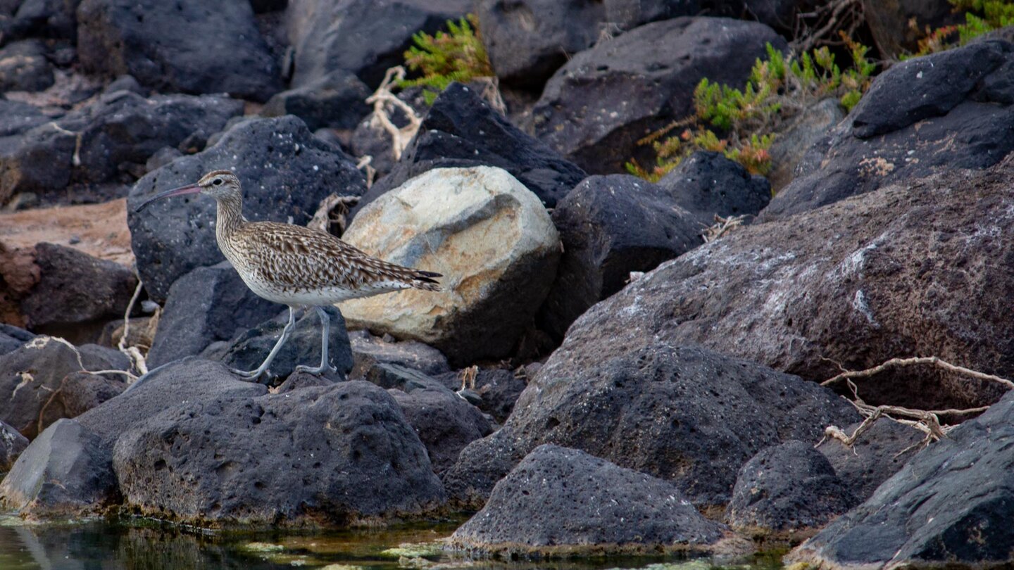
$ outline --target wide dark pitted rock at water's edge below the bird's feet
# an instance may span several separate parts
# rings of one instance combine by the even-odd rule
[[[215,525],[346,526],[444,502],[394,399],[368,382],[192,400],[116,444],[125,502]]]

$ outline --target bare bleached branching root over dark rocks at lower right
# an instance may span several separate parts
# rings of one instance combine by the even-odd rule
[[[858,411],[860,415],[863,416],[863,421],[855,430],[853,430],[851,434],[846,433],[845,430],[838,426],[827,426],[824,428],[824,436],[820,442],[817,443],[817,446],[830,438],[841,441],[843,445],[851,449],[863,433],[873,427],[873,424],[877,420],[884,418],[892,422],[912,427],[913,429],[917,429],[925,435],[922,441],[898,451],[898,453],[894,455],[897,457],[914,448],[923,448],[935,441],[939,441],[940,439],[947,437],[947,433],[957,427],[955,425],[949,425],[941,422],[941,417],[960,418],[962,416],[982,414],[990,409],[989,406],[946,410],[917,410],[901,406],[871,406],[863,402],[863,399],[859,397],[859,390],[856,387],[855,382],[852,381],[853,378],[869,377],[891,368],[926,364],[971,378],[996,382],[1005,386],[1007,389],[1014,388],[1014,381],[1007,378],[994,374],[986,374],[977,370],[965,368],[964,366],[957,366],[936,356],[892,358],[879,366],[874,366],[865,370],[845,370],[842,373],[820,382],[820,385],[829,385],[840,381],[847,382],[849,389],[852,391],[852,400],[850,400],[849,403],[856,408],[856,411]]]

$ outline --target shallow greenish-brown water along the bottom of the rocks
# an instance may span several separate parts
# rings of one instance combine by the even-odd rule
[[[781,553],[758,555],[726,566],[716,566],[707,559],[671,556],[537,563],[472,560],[441,548],[439,541],[459,523],[460,520],[454,520],[322,533],[249,533],[211,532],[137,519],[26,525],[8,517],[0,520],[0,570],[781,568]]]

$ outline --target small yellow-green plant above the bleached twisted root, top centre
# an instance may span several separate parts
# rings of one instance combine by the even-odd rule
[[[447,20],[447,31],[413,35],[415,46],[405,53],[409,69],[420,73],[414,79],[399,82],[402,88],[424,87],[427,104],[454,81],[466,83],[479,77],[492,77],[493,66],[479,32],[479,18],[468,14],[458,21]]]

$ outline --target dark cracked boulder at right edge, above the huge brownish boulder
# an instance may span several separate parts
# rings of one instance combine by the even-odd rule
[[[762,219],[934,172],[996,164],[1014,150],[1012,69],[1014,46],[998,41],[892,66],[807,152]]]

